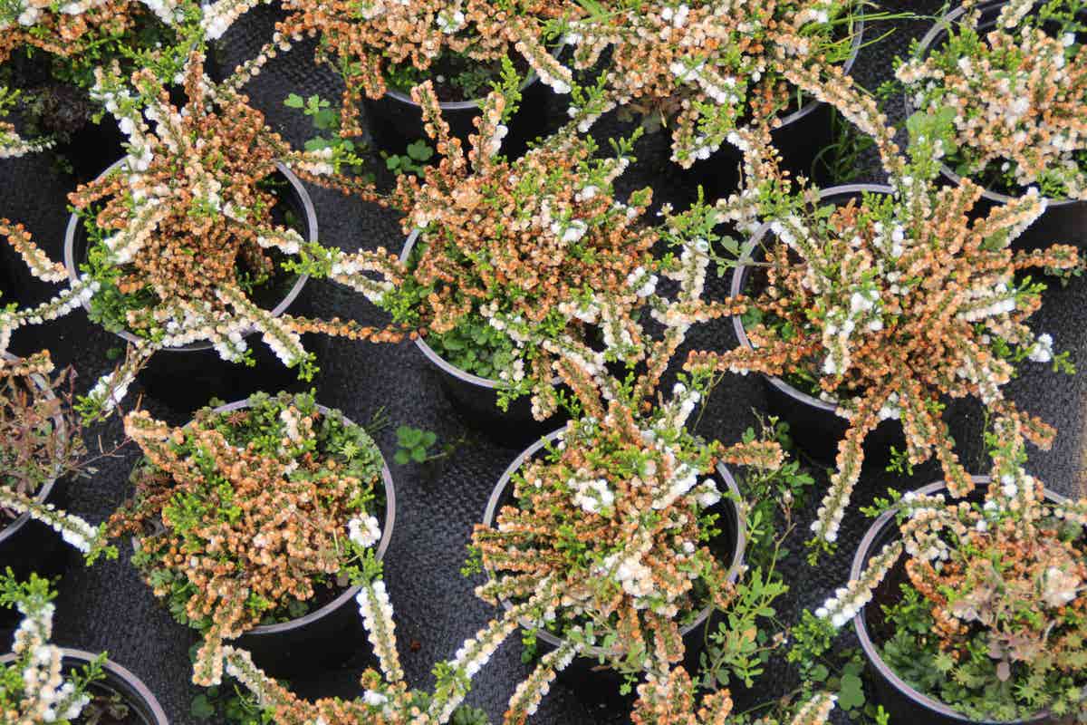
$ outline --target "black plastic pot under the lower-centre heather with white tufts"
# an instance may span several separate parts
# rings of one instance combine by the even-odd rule
[[[547,437],[537,440],[522,451],[507,467],[502,476],[498,479],[498,485],[495,486],[490,499],[487,501],[487,509],[483,515],[483,523],[486,526],[493,525],[498,512],[502,507],[514,504],[513,486],[511,485],[513,474],[526,462],[541,454],[544,447],[557,441],[563,433],[565,433],[565,428],[554,430]],[[714,478],[716,478],[719,485],[723,485],[721,490],[723,492],[726,491],[726,495],[716,504],[717,513],[721,514],[717,520],[721,534],[709,546],[721,559],[728,560],[728,580],[735,583],[744,570],[744,553],[747,549],[747,523],[737,505],[740,492],[732,472],[723,463],[719,463]],[[493,576],[493,574],[488,572],[488,576]],[[503,601],[502,605],[505,609],[512,607],[508,601]],[[695,672],[698,668],[698,657],[705,643],[705,632],[708,627],[712,628],[716,623],[717,617],[715,615],[716,611],[711,604],[699,612],[692,622],[680,629],[684,647],[686,648],[684,665],[688,672]],[[536,636],[541,653],[552,651],[562,643],[562,640],[544,629],[538,630]],[[622,700],[619,696],[619,685],[622,684],[622,677],[613,670],[599,666],[601,653],[602,650],[598,647],[585,650],[582,655],[575,658],[560,673],[560,676],[571,683],[587,685],[595,698],[599,698],[605,702],[619,702]],[[614,687],[611,685],[614,685]]]

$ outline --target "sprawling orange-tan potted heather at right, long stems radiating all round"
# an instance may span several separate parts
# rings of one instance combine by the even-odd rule
[[[746,343],[694,352],[686,363],[698,371],[777,377],[771,401],[817,404],[822,420],[808,412],[797,421],[800,445],[805,434],[808,442],[829,438],[835,413],[848,418],[839,424],[837,470],[812,525],[816,536],[810,543],[822,548],[837,539],[861,475],[864,440],[882,421],[901,421],[903,461],[917,464],[935,453],[949,489],[962,496],[973,485],[941,417],[947,400],[976,398],[996,417],[1024,422],[1032,442],[1048,447],[1052,428],[1021,412],[1001,386],[1024,362],[1074,371],[1065,354],[1053,352],[1050,335],[1025,324],[1045,285],[1015,273],[1071,270],[1078,264],[1075,248],[1009,249],[1041,213],[1040,197],[1025,195],[969,222],[982,189],[970,182],[942,189],[932,183],[939,142],[920,135],[907,160],[874,101],[858,103],[867,110],[855,120],[876,139],[890,185],[830,190],[838,205],[826,204],[822,200],[832,198],[814,189],[794,192],[764,139],[746,135],[748,171],[762,184],[759,202],[750,215],[748,193],[722,204],[735,204],[749,225],[765,225],[744,251],[734,280],[734,290],[746,292],[734,298],[747,307],[736,320]],[[859,202],[841,203],[858,191]],[[745,284],[752,272],[759,278]],[[810,424],[807,430],[803,424]]]

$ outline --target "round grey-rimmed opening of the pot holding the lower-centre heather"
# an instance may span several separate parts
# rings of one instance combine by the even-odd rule
[[[540,451],[549,443],[557,441],[565,433],[565,428],[560,428],[554,430],[548,436],[536,441],[524,451],[521,452],[517,458],[507,467],[502,473],[501,477],[498,479],[498,485],[495,486],[493,491],[491,491],[490,499],[487,501],[487,509],[483,515],[483,523],[486,526],[492,526],[499,510],[507,503],[513,502],[513,490],[512,490],[512,477],[525,463],[536,458]],[[722,549],[730,550],[730,559],[728,565],[728,580],[735,583],[744,568],[744,554],[747,550],[747,530],[746,530],[746,520],[744,514],[736,501],[740,498],[739,487],[736,485],[736,479],[733,478],[732,473],[723,464],[719,463],[716,472],[714,474],[719,484],[724,484],[724,491],[727,491],[725,496],[722,497],[717,505],[721,507],[721,524],[722,534],[716,537],[720,542],[717,548],[719,551]],[[493,578],[493,572],[487,571],[488,578]],[[507,600],[502,600],[502,607],[507,610],[511,609],[513,604]],[[696,632],[699,627],[703,626],[710,615],[713,613],[713,604],[704,607],[698,612],[698,615],[688,624],[684,625],[679,634],[683,637],[687,637],[691,633]],[[530,623],[523,623],[524,626],[530,627]],[[562,643],[562,640],[546,629],[538,629],[536,635],[541,641],[551,648],[557,648]],[[597,659],[603,657],[605,653],[599,647],[589,647],[580,652],[580,657]]]

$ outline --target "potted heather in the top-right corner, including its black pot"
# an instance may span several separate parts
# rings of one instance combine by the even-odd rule
[[[1087,243],[1087,8],[1078,0],[969,3],[940,18],[901,62],[908,114],[939,122],[945,177],[987,203],[1028,188],[1049,202],[1019,243]]]

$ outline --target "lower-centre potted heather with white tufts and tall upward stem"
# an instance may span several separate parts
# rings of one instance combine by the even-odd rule
[[[508,611],[532,601],[542,608],[526,628],[548,651],[518,688],[515,722],[535,710],[547,689],[539,684],[578,655],[628,682],[645,677],[636,713],[649,716],[657,697],[689,685],[678,663],[697,663],[702,627],[713,611],[728,611],[740,586],[747,530],[723,464],[773,470],[783,453],[771,440],[725,448],[688,429],[711,376],[661,391],[690,325],[722,312],[701,300],[707,257],[688,247],[684,261],[678,290],[654,309],[663,332],[645,335],[640,374],[619,378],[590,360],[560,358],[578,416],[513,462],[473,534],[470,567],[488,573],[477,595]],[[557,595],[540,600],[553,586]],[[720,697],[705,704],[727,712]]]

